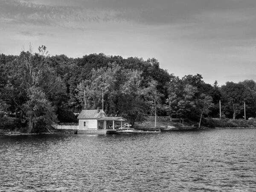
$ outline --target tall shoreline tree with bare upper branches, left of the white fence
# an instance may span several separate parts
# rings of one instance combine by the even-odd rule
[[[30,46],[28,51],[22,51],[14,62],[17,72],[13,77],[17,80],[9,84],[12,100],[23,113],[23,120],[28,122],[28,132],[32,132],[40,122],[48,127],[56,121],[55,110],[48,101],[44,90],[50,93],[52,84],[47,84],[50,78],[49,56],[44,45],[38,48],[39,53],[33,53]],[[18,96],[17,96],[18,95]],[[23,99],[21,99],[23,98]],[[16,100],[18,99],[18,100]]]

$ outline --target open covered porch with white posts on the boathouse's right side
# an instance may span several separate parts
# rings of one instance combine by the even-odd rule
[[[122,128],[124,126],[124,121],[127,120],[123,117],[100,117],[99,119],[97,119],[97,130]]]

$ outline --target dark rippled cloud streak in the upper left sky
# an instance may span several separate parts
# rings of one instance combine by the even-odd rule
[[[19,0],[0,2],[0,22],[6,24],[68,26],[71,22],[107,21],[111,17],[113,14],[108,12],[97,12],[79,7],[49,6]]]

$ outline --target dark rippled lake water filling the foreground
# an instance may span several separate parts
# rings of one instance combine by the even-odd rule
[[[3,191],[256,191],[256,129],[0,137]]]

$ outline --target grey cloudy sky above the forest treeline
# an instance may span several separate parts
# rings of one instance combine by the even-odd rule
[[[256,0],[0,0],[0,53],[156,58],[180,78],[256,81]]]

